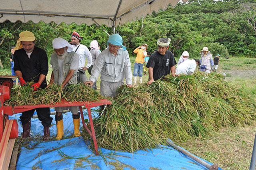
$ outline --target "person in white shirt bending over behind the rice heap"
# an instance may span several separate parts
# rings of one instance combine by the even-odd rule
[[[177,67],[175,74],[186,74],[191,75],[196,69],[196,66],[200,65],[200,60],[198,59],[186,59],[184,62],[180,63]]]

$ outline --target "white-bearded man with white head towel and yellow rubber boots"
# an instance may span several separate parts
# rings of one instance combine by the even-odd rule
[[[78,54],[73,51],[72,46],[63,38],[55,38],[52,41],[52,47],[55,52],[51,55],[50,64],[52,65],[52,75],[48,86],[55,83],[58,86],[61,86],[61,88],[65,88],[69,84],[77,84],[76,74],[79,63]],[[62,117],[63,110],[70,110],[72,112],[74,136],[81,136],[79,132],[80,113],[78,112],[78,106],[56,107],[55,120],[58,130],[56,140],[61,140],[64,134]]]

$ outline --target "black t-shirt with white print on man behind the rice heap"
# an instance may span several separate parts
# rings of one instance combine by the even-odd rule
[[[172,52],[166,50],[164,55],[161,55],[158,51],[151,54],[146,67],[153,68],[153,78],[156,81],[162,76],[170,74],[171,67],[176,64]]]

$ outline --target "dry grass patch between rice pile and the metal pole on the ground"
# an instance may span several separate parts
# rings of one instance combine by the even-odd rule
[[[221,128],[208,139],[187,138],[174,143],[209,162],[218,163],[223,170],[245,170],[250,167],[255,128],[256,124]]]

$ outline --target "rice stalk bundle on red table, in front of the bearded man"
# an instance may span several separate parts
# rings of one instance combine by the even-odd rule
[[[99,101],[104,99],[96,90],[82,83],[66,86],[62,98],[70,102]]]

